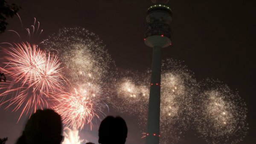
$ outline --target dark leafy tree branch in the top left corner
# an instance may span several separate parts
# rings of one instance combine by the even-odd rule
[[[8,5],[6,0],[0,0],[0,34],[6,30],[8,25],[6,18],[13,17],[19,9],[20,7],[14,3]]]

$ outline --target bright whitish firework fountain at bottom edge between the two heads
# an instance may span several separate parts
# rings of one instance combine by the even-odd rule
[[[68,128],[64,127],[64,141],[62,144],[82,144],[82,142],[88,142],[87,140],[84,141],[84,139],[81,139],[79,136],[79,130],[76,130],[76,128]]]

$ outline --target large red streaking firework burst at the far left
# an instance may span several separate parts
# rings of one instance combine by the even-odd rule
[[[7,107],[16,105],[13,111],[22,109],[23,113],[32,114],[38,107],[48,107],[45,98],[49,92],[61,90],[64,77],[60,62],[54,55],[27,43],[14,44],[6,49],[6,65],[0,71],[12,79],[9,85],[2,84],[1,105],[9,102]],[[15,86],[16,85],[16,86]],[[12,97],[9,98],[11,95]],[[8,98],[7,100],[5,100]],[[20,118],[19,118],[20,119]]]

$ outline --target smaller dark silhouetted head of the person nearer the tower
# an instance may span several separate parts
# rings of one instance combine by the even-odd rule
[[[121,117],[106,117],[99,126],[99,144],[125,144],[127,126]]]

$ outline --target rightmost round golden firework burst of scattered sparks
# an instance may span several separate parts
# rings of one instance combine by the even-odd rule
[[[238,143],[247,134],[246,104],[227,85],[207,79],[195,105],[195,127],[208,143]],[[199,124],[198,124],[199,123]]]

